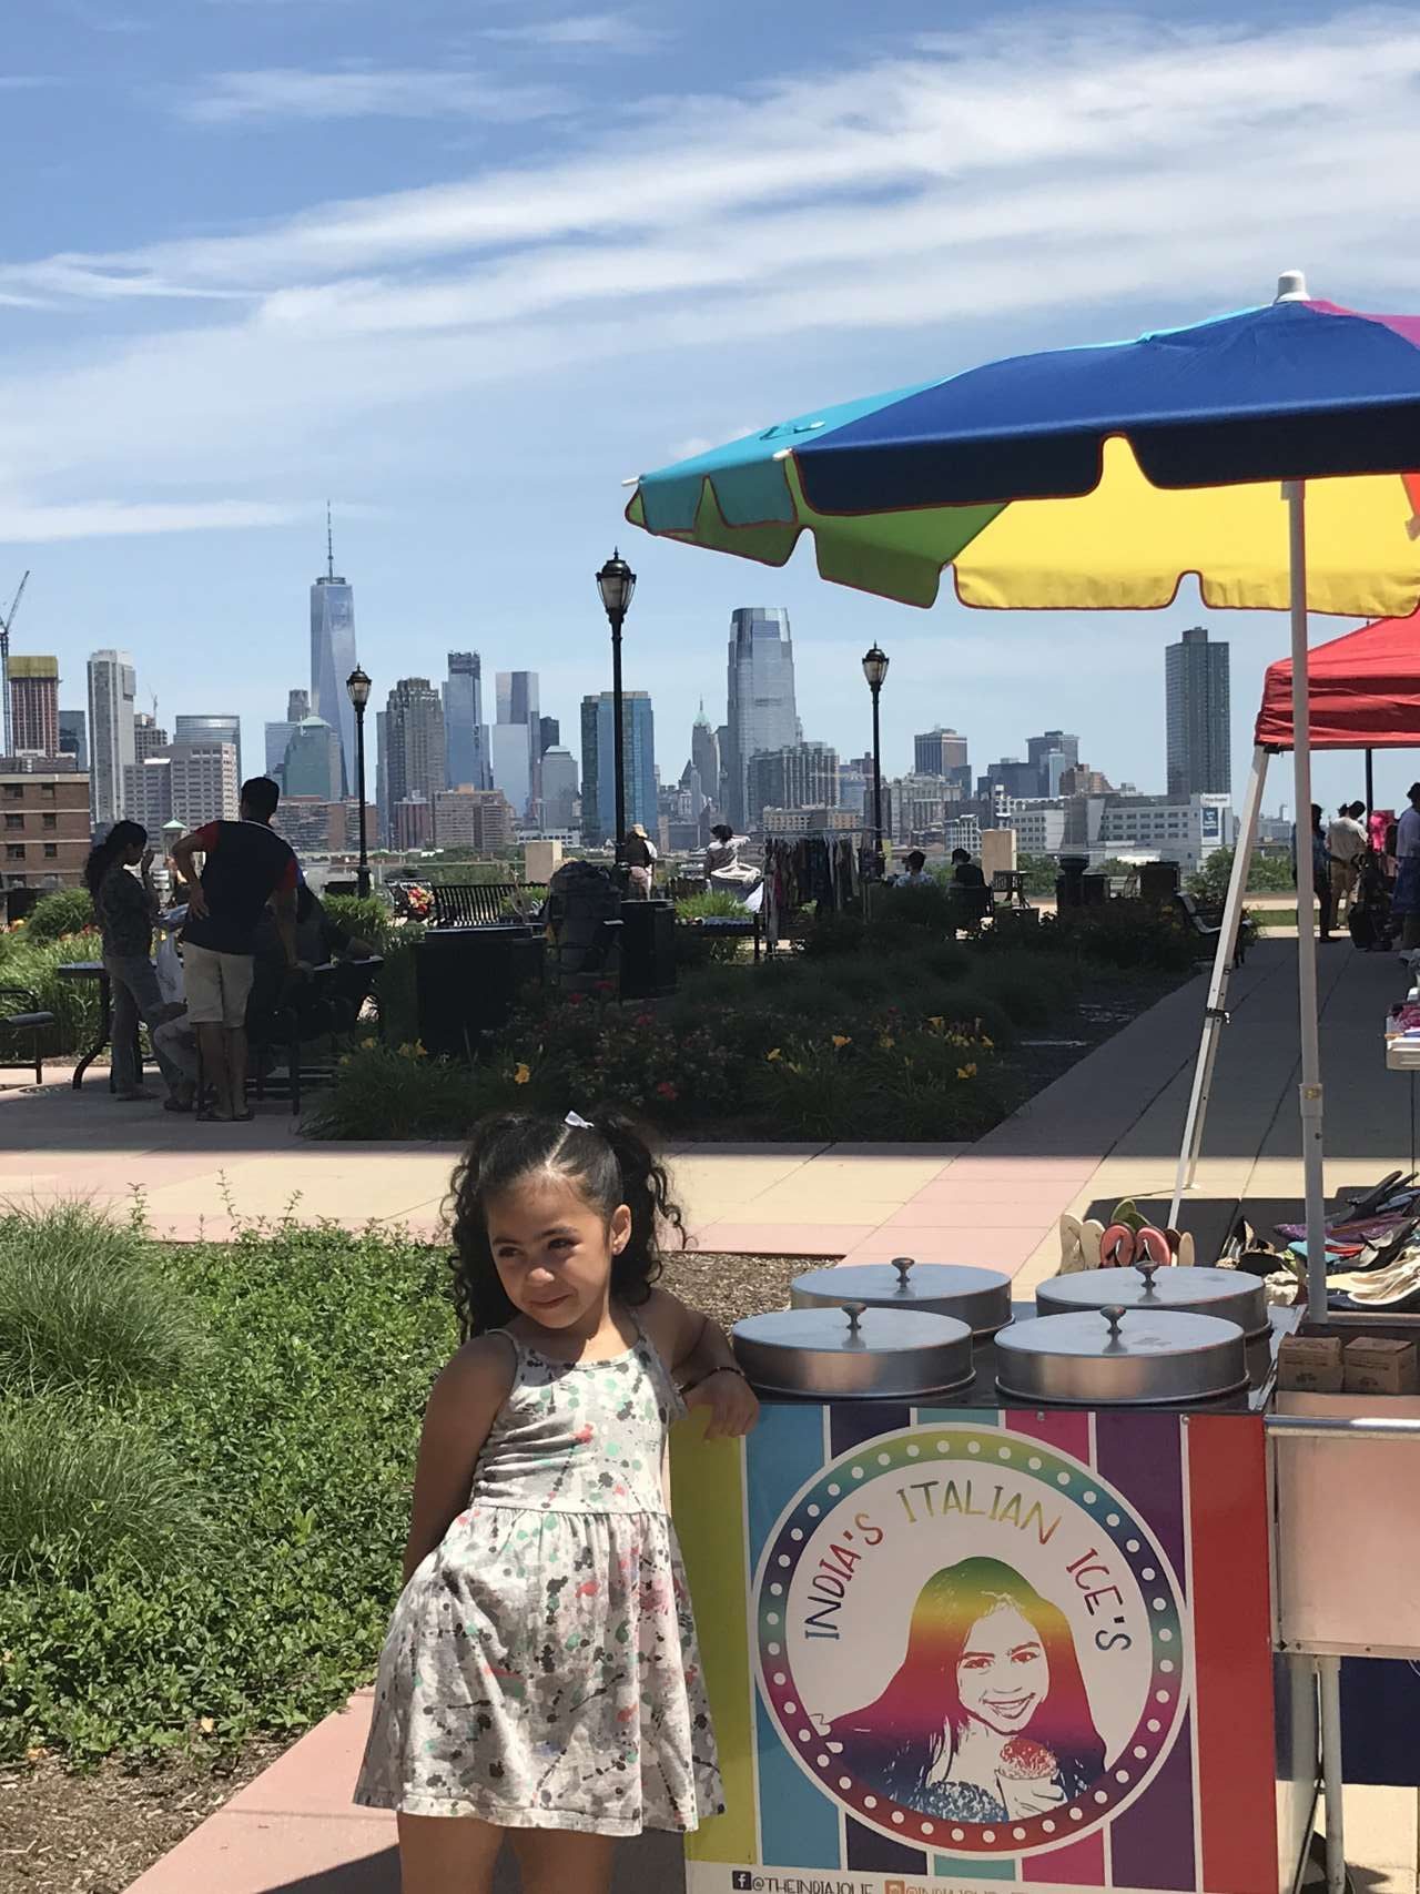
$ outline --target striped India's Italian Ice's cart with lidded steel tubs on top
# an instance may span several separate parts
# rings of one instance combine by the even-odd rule
[[[822,1275],[848,1307],[737,1330],[759,1430],[676,1443],[727,1788],[689,1894],[1289,1888],[1261,1284],[1056,1278],[1000,1326],[971,1271]]]

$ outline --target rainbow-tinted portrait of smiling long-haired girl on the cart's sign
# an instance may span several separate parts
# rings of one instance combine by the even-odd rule
[[[1041,1814],[1104,1773],[1070,1623],[1000,1559],[928,1580],[896,1676],[833,1739],[897,1801],[956,1822]]]

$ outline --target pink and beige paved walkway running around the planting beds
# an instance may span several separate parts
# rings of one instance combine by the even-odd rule
[[[1411,1167],[1411,1097],[1380,1049],[1395,962],[1340,943],[1322,953],[1327,1186],[1337,1189]],[[1295,945],[1263,941],[1234,981],[1233,1008],[1198,1199],[1295,1199]],[[1200,1010],[1195,981],[967,1148],[687,1148],[676,1176],[691,1225],[704,1248],[914,1254],[1009,1269],[1028,1288],[1055,1271],[1064,1208],[1168,1193]],[[286,1208],[434,1229],[451,1161],[453,1148],[311,1146],[275,1112],[248,1127],[165,1119],[110,1104],[98,1085],[83,1097],[8,1097],[0,1108],[0,1195],[87,1189],[123,1203],[140,1186],[155,1225],[178,1237],[225,1235],[233,1210]],[[133,1894],[394,1894],[392,1822],[348,1805],[365,1716],[356,1697],[328,1718]],[[1414,1794],[1356,1792],[1352,1813],[1350,1854],[1371,1869],[1369,1885],[1416,1894]],[[623,1850],[621,1871],[627,1890],[680,1885],[665,1843]]]

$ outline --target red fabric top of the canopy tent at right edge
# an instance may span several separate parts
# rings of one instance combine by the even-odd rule
[[[1318,644],[1306,659],[1306,727],[1316,750],[1420,744],[1420,612],[1378,617]],[[1291,748],[1291,659],[1267,667],[1257,746]]]

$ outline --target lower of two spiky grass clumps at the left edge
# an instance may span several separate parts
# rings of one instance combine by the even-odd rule
[[[140,1578],[212,1544],[197,1481],[148,1430],[83,1403],[0,1405],[0,1574],[78,1585],[123,1555]]]

